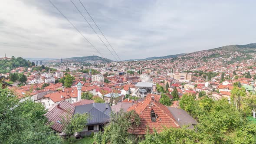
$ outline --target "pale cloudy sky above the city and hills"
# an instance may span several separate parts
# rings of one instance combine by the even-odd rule
[[[116,60],[144,59],[256,43],[255,0],[51,0],[95,46]],[[48,0],[0,4],[0,57],[101,56]]]

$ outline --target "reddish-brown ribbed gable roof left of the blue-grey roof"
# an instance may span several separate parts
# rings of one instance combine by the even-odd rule
[[[50,108],[49,111],[45,114],[46,118],[48,118],[47,124],[53,123],[51,128],[55,131],[62,133],[65,128],[65,124],[62,121],[62,118],[69,118],[66,119],[66,121],[69,121],[74,111],[75,106],[63,100],[59,104],[54,105],[52,108]]]

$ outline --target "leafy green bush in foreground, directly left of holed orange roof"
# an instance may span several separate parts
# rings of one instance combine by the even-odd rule
[[[128,131],[140,124],[140,117],[135,111],[111,113],[111,118],[104,127],[104,133],[94,135],[95,144],[131,144],[136,143],[135,136]]]

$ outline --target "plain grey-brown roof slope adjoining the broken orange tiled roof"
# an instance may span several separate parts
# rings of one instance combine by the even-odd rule
[[[189,125],[189,129],[193,129],[197,121],[192,118],[186,111],[181,108],[167,107],[171,114],[174,116],[175,120],[180,126]]]

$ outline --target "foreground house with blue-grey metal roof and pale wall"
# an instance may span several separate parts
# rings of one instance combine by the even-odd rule
[[[88,113],[90,118],[87,119],[85,128],[78,134],[83,137],[91,135],[92,132],[103,131],[104,124],[109,122],[111,107],[108,103],[92,103],[87,105],[75,106],[75,114]]]

